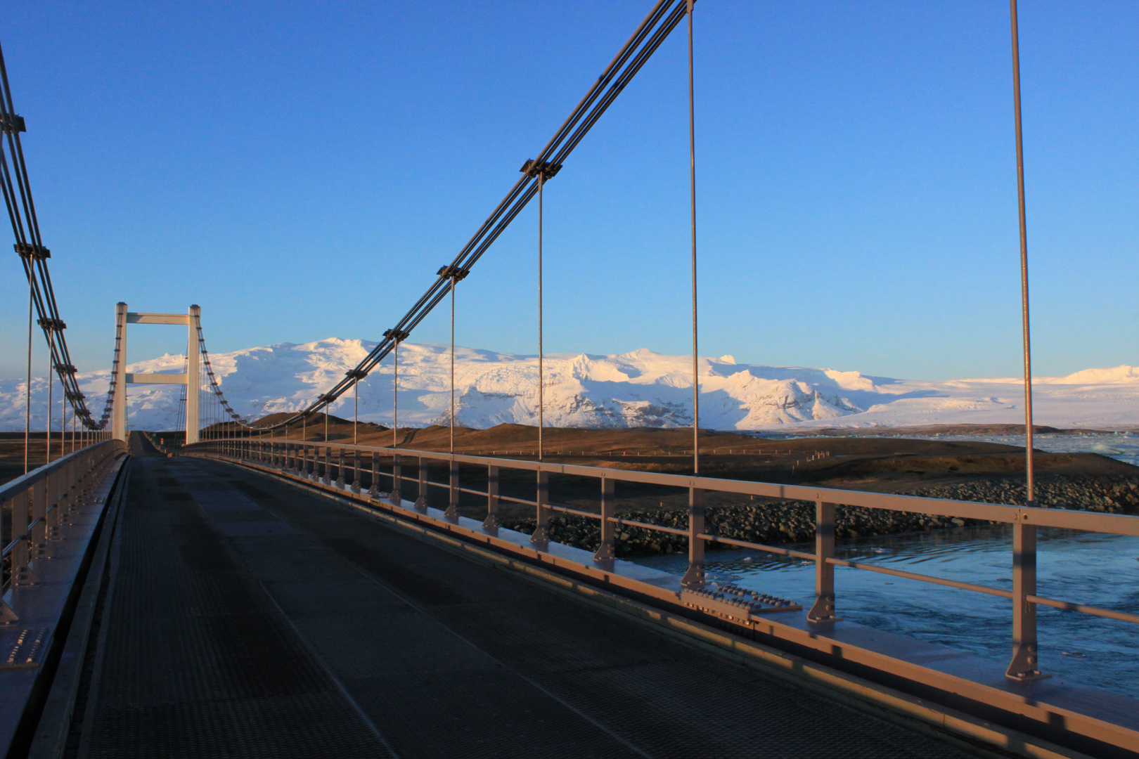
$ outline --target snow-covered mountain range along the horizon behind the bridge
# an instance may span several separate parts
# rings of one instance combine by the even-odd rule
[[[335,385],[375,347],[329,338],[213,354],[214,372],[236,411],[255,419],[294,411]],[[130,372],[178,373],[185,357],[140,361]],[[620,355],[552,354],[544,361],[546,423],[556,427],[687,427],[693,423],[691,357],[640,349]],[[456,420],[467,427],[538,421],[538,358],[456,349]],[[700,426],[761,430],[870,424],[1023,422],[1021,380],[899,380],[854,371],[737,364],[731,356],[700,358]],[[443,345],[400,346],[400,424],[445,422],[450,352]],[[92,413],[103,410],[108,372],[80,374]],[[1056,427],[1139,427],[1139,368],[1089,369],[1035,378],[1035,419]],[[24,381],[0,381],[0,429],[24,427]],[[58,401],[58,385],[56,389]],[[392,358],[360,385],[360,420],[392,422]],[[172,429],[179,386],[128,387],[129,423]],[[32,409],[43,428],[47,382],[32,381]],[[333,404],[351,418],[352,394]],[[58,404],[55,412],[58,424]]]

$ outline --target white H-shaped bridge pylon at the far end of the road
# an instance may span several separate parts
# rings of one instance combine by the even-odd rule
[[[185,374],[134,374],[126,372],[128,324],[186,324]],[[120,335],[118,365],[115,366],[115,398],[112,412],[112,434],[116,440],[126,440],[128,385],[185,385],[186,386],[186,443],[198,442],[198,328],[202,308],[190,306],[185,314],[138,314],[126,311],[125,303],[115,305],[115,331]],[[191,383],[190,378],[194,378]],[[192,390],[192,391],[191,391]]]

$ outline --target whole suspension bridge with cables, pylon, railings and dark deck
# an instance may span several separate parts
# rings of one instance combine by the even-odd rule
[[[71,362],[21,146],[25,124],[0,57],[0,183],[28,283],[27,387],[39,325],[64,430],[47,436],[46,463],[33,461],[28,393],[24,473],[0,486],[7,756],[1139,756],[1133,700],[1050,677],[1055,651],[1036,634],[1040,605],[1139,622],[1043,595],[1035,567],[1040,528],[1134,536],[1139,518],[1043,509],[1033,500],[1015,0],[1011,11],[1029,401],[1024,506],[702,475],[691,0],[653,7],[375,349],[272,423],[243,418],[226,399],[194,305],[185,313],[115,306],[109,389],[93,416]],[[456,453],[459,283],[535,198],[541,230],[544,184],[678,28],[687,28],[689,52],[691,471],[559,462],[546,455],[541,419],[535,456]],[[539,231],[539,272],[541,239]],[[399,347],[446,299],[451,445],[416,449],[396,435]],[[185,371],[129,373],[130,324],[185,327]],[[541,356],[541,316],[539,344]],[[330,440],[329,406],[390,355],[391,445]],[[128,431],[129,387],[155,382],[185,388],[185,439],[174,448]],[[621,515],[618,493],[638,487],[685,494],[687,522]],[[591,505],[567,505],[571,488],[591,492]],[[813,503],[813,550],[716,534],[705,521],[710,495]],[[532,510],[532,533],[500,522],[503,503]],[[839,558],[836,512],[852,508],[1008,526],[1011,588]],[[559,514],[596,522],[596,550],[560,543],[550,529]],[[629,528],[682,539],[687,571],[618,559]],[[809,562],[813,603],[784,597],[775,584],[760,592],[710,580],[705,548],[716,544]],[[843,620],[836,567],[1007,600],[1010,661]]]

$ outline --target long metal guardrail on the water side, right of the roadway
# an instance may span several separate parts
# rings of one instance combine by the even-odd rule
[[[319,480],[325,485],[333,485],[347,488],[352,493],[361,493],[361,472],[363,469],[363,457],[368,457],[370,469],[370,489],[372,498],[379,498],[380,492],[378,482],[382,478],[392,481],[390,493],[386,495],[391,503],[401,503],[400,492],[405,482],[416,484],[417,509],[426,512],[431,488],[446,490],[446,510],[444,518],[456,520],[458,518],[459,495],[461,493],[481,495],[486,497],[486,517],[483,527],[492,529],[498,527],[499,503],[502,501],[531,505],[534,508],[536,528],[531,536],[531,543],[542,545],[549,543],[549,518],[552,512],[574,514],[599,522],[600,546],[593,559],[605,562],[614,559],[614,546],[617,541],[616,527],[628,525],[646,530],[669,533],[688,538],[688,570],[683,576],[682,585],[698,592],[696,596],[705,596],[707,591],[704,583],[704,548],[706,543],[721,543],[736,547],[754,548],[768,553],[794,556],[814,562],[814,603],[806,613],[806,619],[812,625],[827,625],[838,620],[835,605],[835,567],[850,567],[865,571],[892,575],[935,585],[943,585],[974,593],[995,595],[1013,601],[1013,660],[1006,676],[1015,680],[1031,680],[1042,675],[1038,668],[1038,642],[1036,642],[1036,605],[1048,605],[1056,609],[1075,611],[1097,617],[1118,619],[1128,622],[1139,622],[1139,614],[1131,614],[1111,609],[1062,601],[1038,595],[1036,593],[1036,528],[1059,527],[1065,529],[1085,530],[1095,533],[1109,533],[1115,535],[1139,536],[1139,517],[1128,517],[1123,514],[1093,513],[1085,511],[1073,511],[1063,509],[1040,509],[1026,506],[1011,506],[993,503],[978,503],[966,501],[951,501],[948,498],[928,498],[906,495],[892,495],[883,493],[866,493],[858,490],[841,490],[835,488],[804,487],[797,485],[778,485],[771,482],[752,482],[743,480],[727,480],[710,477],[693,477],[686,475],[663,475],[656,472],[639,472],[629,470],[613,470],[600,467],[583,467],[575,464],[557,464],[539,461],[518,461],[486,456],[473,456],[448,453],[435,453],[429,451],[412,451],[407,448],[371,447],[359,445],[342,445],[331,443],[312,442],[288,442],[288,440],[265,440],[252,438],[235,438],[213,440],[190,446],[188,453],[215,453],[223,456],[260,462],[261,464],[284,470],[297,477],[310,480]],[[345,463],[345,457],[351,461]],[[418,477],[410,478],[402,475],[402,459],[413,457],[418,460]],[[335,460],[334,460],[335,459]],[[384,462],[382,470],[382,459]],[[449,477],[446,482],[435,482],[428,479],[428,462],[442,461],[448,463]],[[486,467],[487,487],[485,490],[462,487],[459,479],[459,465]],[[502,469],[532,471],[535,475],[535,497],[534,500],[507,497],[499,493],[499,472]],[[351,472],[351,480],[345,480],[345,473]],[[583,511],[565,505],[550,503],[549,501],[549,476],[571,475],[576,477],[592,478],[598,481],[598,511]],[[335,479],[334,479],[335,475]],[[615,513],[614,485],[616,482],[636,482],[648,485],[663,485],[686,488],[688,490],[688,529],[678,529],[654,525],[652,522],[633,521],[617,517]],[[708,533],[704,523],[704,494],[708,492],[727,493],[738,495],[753,495],[763,497],[813,501],[816,503],[814,520],[814,552],[794,551],[779,546],[751,543],[736,538],[722,537]],[[991,522],[1007,523],[1013,527],[1013,588],[1005,589],[977,585],[973,583],[961,583],[932,575],[908,572],[876,564],[868,564],[857,561],[846,561],[835,556],[835,508],[836,506],[862,506],[867,509],[882,509],[887,511],[923,513],[939,517],[957,517],[964,519],[985,520]],[[693,595],[693,594],[682,594]],[[731,594],[729,594],[731,595]],[[738,599],[734,602],[739,601]],[[756,600],[748,600],[747,608],[737,608],[737,619],[751,619],[751,614],[768,611],[763,603]],[[756,601],[753,603],[753,601]],[[703,604],[707,605],[707,604]],[[744,613],[747,612],[747,613]]]

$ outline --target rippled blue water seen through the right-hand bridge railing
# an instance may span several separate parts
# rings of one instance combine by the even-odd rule
[[[1041,529],[1039,595],[1139,613],[1139,538]],[[969,527],[843,541],[842,559],[1011,589],[1011,531]],[[802,547],[812,551],[813,544]],[[710,579],[792,599],[814,597],[811,563],[756,551],[708,551]],[[639,563],[683,574],[687,559]],[[1007,665],[1011,602],[918,580],[835,568],[839,616]],[[1041,668],[1070,683],[1139,695],[1139,625],[1038,607]]]

